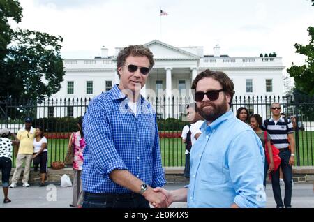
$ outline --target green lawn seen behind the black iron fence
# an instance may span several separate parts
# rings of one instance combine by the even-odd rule
[[[299,165],[314,165],[314,132],[299,131]],[[53,161],[63,161],[68,149],[68,140],[48,140],[48,166]],[[160,138],[163,166],[184,166],[185,145],[181,138]],[[15,162],[15,161],[14,161]]]

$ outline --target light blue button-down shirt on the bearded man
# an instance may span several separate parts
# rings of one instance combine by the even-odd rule
[[[252,128],[229,111],[201,131],[190,153],[188,207],[264,207],[264,149]]]

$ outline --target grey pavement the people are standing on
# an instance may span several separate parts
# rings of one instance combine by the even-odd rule
[[[33,184],[27,188],[19,184],[16,188],[9,189],[8,197],[12,202],[3,204],[3,192],[0,191],[0,208],[71,208],[69,204],[72,200],[72,187],[61,187],[58,184],[50,184],[39,187]],[[168,190],[182,188],[184,184],[167,184]],[[292,188],[292,207],[294,208],[314,208],[314,184],[294,183]],[[284,196],[284,186],[281,186]],[[267,184],[267,208],[275,208],[271,184]],[[175,202],[170,208],[186,208],[186,202]]]

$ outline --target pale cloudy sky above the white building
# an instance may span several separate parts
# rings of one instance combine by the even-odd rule
[[[20,0],[22,22],[13,27],[63,37],[63,58],[94,58],[103,45],[158,39],[174,46],[203,46],[204,54],[231,57],[276,52],[285,66],[304,62],[294,43],[308,43],[314,26],[310,0]],[[160,17],[160,8],[169,15]],[[160,31],[161,23],[161,31]]]

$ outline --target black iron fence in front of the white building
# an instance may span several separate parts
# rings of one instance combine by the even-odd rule
[[[148,98],[158,115],[160,149],[163,166],[184,166],[185,145],[181,130],[187,124],[186,105],[192,98]],[[84,115],[90,98],[47,99],[42,103],[0,99],[0,128],[11,132],[24,126],[24,117],[33,117],[33,126],[42,126],[48,139],[49,165],[63,161],[68,147],[70,133],[77,131],[77,117]],[[271,117],[271,103],[281,103],[282,112],[296,119],[296,164],[314,165],[314,99],[300,96],[247,96],[234,97],[234,114],[240,107],[246,107],[250,114],[260,114],[263,119]],[[13,159],[13,164],[15,158]]]

